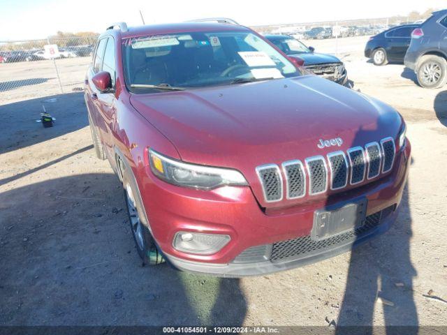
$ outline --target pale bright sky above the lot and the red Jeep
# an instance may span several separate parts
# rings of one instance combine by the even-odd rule
[[[315,7],[316,5],[316,7]],[[140,25],[230,17],[246,26],[406,15],[447,8],[446,0],[0,0],[0,42],[46,38],[57,31],[102,32],[113,22]]]

